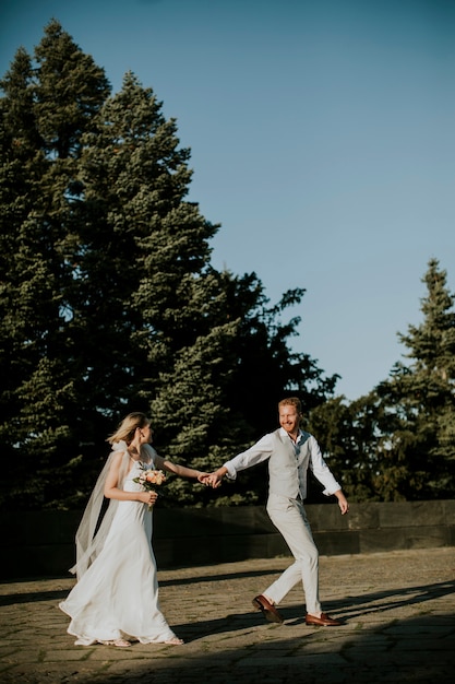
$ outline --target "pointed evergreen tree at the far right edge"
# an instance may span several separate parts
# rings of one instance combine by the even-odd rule
[[[443,498],[455,491],[454,295],[436,259],[422,281],[423,321],[399,335],[410,363],[397,363],[378,388],[386,421],[375,487],[386,500]]]

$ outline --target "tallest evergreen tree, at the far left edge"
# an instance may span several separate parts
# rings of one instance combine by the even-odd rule
[[[16,506],[59,496],[61,482],[71,481],[65,465],[77,453],[80,398],[69,331],[74,141],[108,91],[103,71],[82,56],[58,22],[47,27],[35,57],[36,66],[20,49],[0,83],[0,372],[5,380],[0,435],[7,496]],[[60,116],[52,116],[57,111]],[[24,481],[19,461],[35,476]]]

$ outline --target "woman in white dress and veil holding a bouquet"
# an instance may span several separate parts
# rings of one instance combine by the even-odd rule
[[[60,609],[71,617],[75,645],[128,647],[183,644],[159,610],[152,549],[152,507],[156,492],[135,482],[146,470],[166,470],[204,482],[207,473],[177,465],[151,447],[144,413],[130,413],[108,438],[112,451],[98,477],[76,533],[77,583]],[[110,499],[98,527],[104,497]]]

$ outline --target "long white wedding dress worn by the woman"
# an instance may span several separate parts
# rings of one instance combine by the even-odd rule
[[[153,462],[147,465],[151,467],[154,468]],[[123,490],[143,491],[141,484],[133,482],[140,472],[141,465],[135,461],[125,475]],[[153,514],[141,502],[116,504],[101,551],[59,604],[71,617],[68,632],[76,637],[75,645],[82,646],[118,639],[141,644],[169,641],[176,635],[159,610],[152,549]]]

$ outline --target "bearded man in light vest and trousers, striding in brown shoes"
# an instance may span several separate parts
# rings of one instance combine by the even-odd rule
[[[206,483],[216,487],[225,475],[235,480],[239,471],[268,459],[267,514],[288,544],[295,563],[253,599],[253,605],[268,622],[283,623],[276,605],[302,580],[306,624],[336,626],[340,622],[322,612],[319,599],[319,553],[303,508],[308,468],[325,487],[324,494],[336,496],[342,515],[348,512],[349,505],[324,462],[316,440],[300,429],[300,400],[296,397],[283,399],[278,403],[278,416],[280,427],[277,431],[268,433],[250,449],[227,461],[206,479]]]

